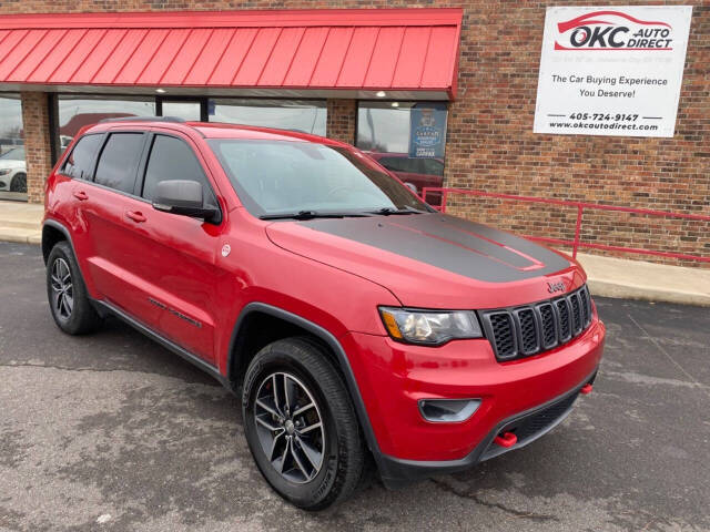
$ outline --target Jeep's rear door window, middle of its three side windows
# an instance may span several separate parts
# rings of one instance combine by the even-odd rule
[[[99,157],[94,181],[132,194],[142,149],[143,133],[113,133]]]

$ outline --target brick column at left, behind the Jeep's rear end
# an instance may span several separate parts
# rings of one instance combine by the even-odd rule
[[[44,201],[44,181],[52,171],[47,93],[22,92],[21,99],[28,202],[42,203]]]

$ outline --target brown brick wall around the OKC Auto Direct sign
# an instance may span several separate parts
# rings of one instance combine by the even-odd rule
[[[446,182],[483,188],[710,214],[710,2],[607,0],[602,4],[692,4],[673,139],[532,133],[545,8],[558,1],[4,0],[1,13],[184,9],[464,7],[458,99],[450,106]],[[561,4],[590,6],[568,0]],[[342,105],[341,105],[342,103]],[[328,133],[354,137],[353,103],[328,102]],[[337,113],[337,114],[336,114]],[[26,126],[27,127],[27,126]],[[351,130],[353,127],[353,130]],[[344,136],[341,136],[344,135]],[[510,203],[453,201],[453,212],[527,234],[570,237],[574,215]],[[710,224],[585,215],[584,238],[710,256]],[[670,260],[672,263],[672,260]],[[710,266],[710,265],[706,265]]]

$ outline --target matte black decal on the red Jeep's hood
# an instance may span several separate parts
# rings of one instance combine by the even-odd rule
[[[570,266],[560,255],[530,241],[442,214],[311,219],[300,224],[488,283],[539,277]]]

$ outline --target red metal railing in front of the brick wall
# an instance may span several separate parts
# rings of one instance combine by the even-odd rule
[[[526,203],[542,203],[542,204],[549,204],[549,205],[560,205],[565,207],[575,207],[577,208],[577,222],[575,225],[574,241],[566,241],[561,238],[549,238],[544,236],[526,236],[526,238],[529,238],[531,241],[545,242],[548,244],[557,244],[557,245],[564,245],[564,246],[572,246],[572,257],[577,257],[577,249],[582,247],[582,248],[589,248],[589,249],[605,249],[610,252],[636,253],[639,255],[656,255],[660,257],[681,258],[686,260],[699,260],[702,263],[710,263],[710,257],[701,257],[699,255],[688,255],[684,253],[671,253],[671,252],[657,252],[655,249],[645,249],[641,247],[623,247],[623,246],[612,246],[608,244],[595,244],[590,242],[581,242],[581,223],[582,223],[582,214],[585,209],[613,211],[618,213],[640,214],[646,216],[658,216],[658,217],[665,217],[665,218],[680,218],[680,219],[693,219],[697,222],[710,222],[710,216],[706,216],[702,214],[669,213],[666,211],[653,211],[650,208],[632,208],[632,207],[621,207],[616,205],[599,205],[596,203],[572,202],[567,200],[555,200],[555,198],[548,198],[548,197],[516,196],[513,194],[495,194],[491,192],[468,191],[464,188],[424,187],[422,190],[422,198],[426,201],[426,196],[430,192],[438,192],[442,194],[442,205],[435,208],[439,209],[443,213],[446,212],[446,204],[447,204],[449,194],[463,194],[466,196],[494,197],[498,200],[510,200],[510,201],[526,202]]]

